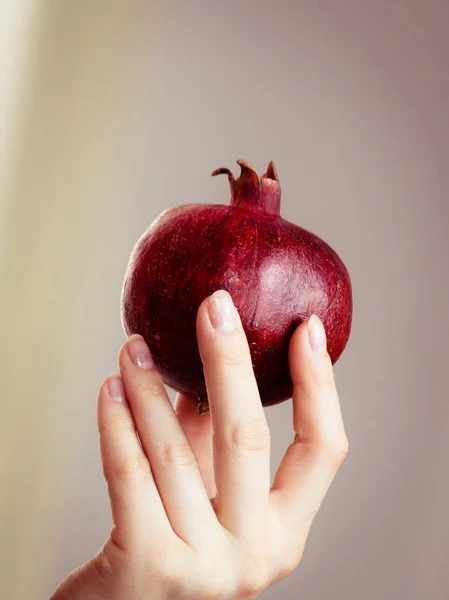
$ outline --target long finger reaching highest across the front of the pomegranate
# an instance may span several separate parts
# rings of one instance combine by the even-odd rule
[[[269,503],[270,434],[248,342],[227,292],[202,303],[197,336],[213,424],[217,514],[233,534],[257,543]]]

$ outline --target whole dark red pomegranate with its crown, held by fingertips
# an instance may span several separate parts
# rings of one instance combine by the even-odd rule
[[[349,274],[319,237],[279,215],[274,165],[261,179],[239,161],[231,205],[190,204],[166,210],[137,242],[122,290],[128,335],[142,335],[166,385],[207,399],[196,339],[201,302],[227,290],[248,338],[264,406],[292,396],[288,347],[312,314],[323,321],[333,363],[352,321]],[[257,177],[254,178],[254,175]],[[243,399],[242,399],[243,401]]]

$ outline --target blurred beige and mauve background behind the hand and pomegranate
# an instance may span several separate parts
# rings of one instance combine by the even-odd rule
[[[1,577],[48,598],[111,527],[95,421],[131,249],[274,160],[354,287],[350,454],[285,600],[449,597],[447,0],[0,3]],[[273,469],[291,403],[267,410]]]

